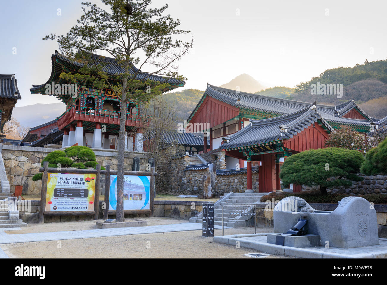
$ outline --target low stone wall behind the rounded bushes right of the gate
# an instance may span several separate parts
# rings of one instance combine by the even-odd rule
[[[338,187],[333,189],[327,189],[328,193],[351,193],[354,196],[360,194],[387,194],[387,175],[373,175],[366,176],[364,174],[358,174],[363,177],[363,181],[352,181],[351,187]],[[320,186],[308,187],[303,185],[303,191],[308,190],[320,190]]]

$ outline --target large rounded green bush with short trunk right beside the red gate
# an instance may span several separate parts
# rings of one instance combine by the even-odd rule
[[[321,194],[326,194],[327,188],[349,187],[352,181],[363,180],[356,175],[363,162],[364,157],[357,150],[311,149],[288,157],[279,177],[284,185],[320,185]]]

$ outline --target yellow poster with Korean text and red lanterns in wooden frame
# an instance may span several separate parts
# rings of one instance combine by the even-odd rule
[[[45,211],[94,211],[96,174],[48,173]]]

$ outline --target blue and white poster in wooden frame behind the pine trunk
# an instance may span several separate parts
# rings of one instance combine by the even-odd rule
[[[149,210],[151,176],[124,175],[123,209]],[[110,175],[109,210],[117,209],[117,175]]]

